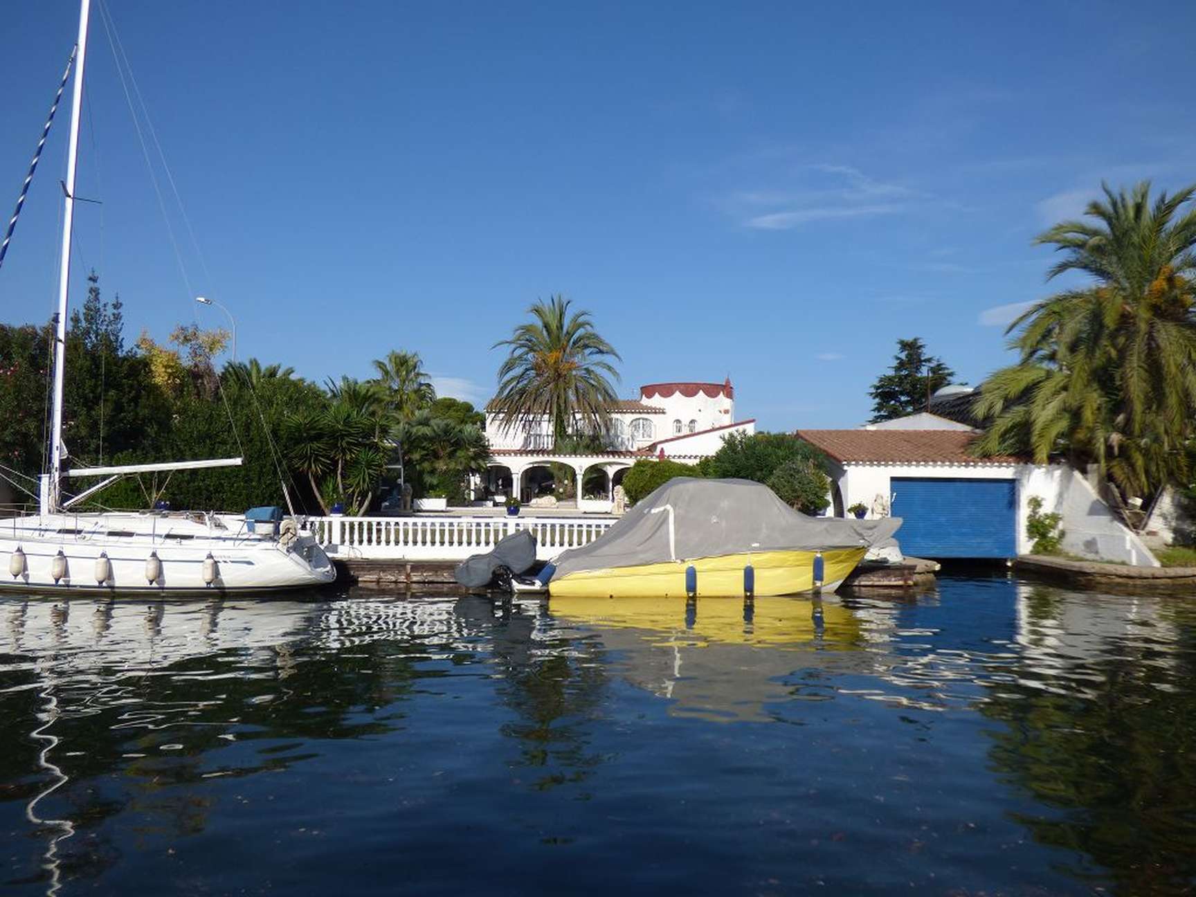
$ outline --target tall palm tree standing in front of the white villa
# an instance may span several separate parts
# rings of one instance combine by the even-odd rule
[[[570,432],[603,432],[616,401],[610,379],[618,353],[594,330],[590,312],[569,313],[572,303],[550,297],[529,309],[533,321],[514,329],[499,368],[499,391],[490,404],[505,429],[548,419],[554,439]]]

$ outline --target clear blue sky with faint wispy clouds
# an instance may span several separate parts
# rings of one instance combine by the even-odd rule
[[[730,376],[765,428],[854,426],[898,337],[969,383],[1005,364],[1007,306],[1048,292],[1032,237],[1103,178],[1196,181],[1190,2],[109,6],[202,258],[172,213],[184,277],[97,10],[77,282],[130,337],[216,297],[240,356],[315,379],[405,348],[484,401],[490,346],[563,293],[624,395]],[[5,220],[75,16],[5,11]],[[60,116],[7,322],[55,300]]]

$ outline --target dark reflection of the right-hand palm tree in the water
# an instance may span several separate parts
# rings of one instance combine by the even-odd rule
[[[1066,642],[1064,609],[1055,590],[1035,588],[1026,599],[1030,634],[1018,665],[980,704],[1006,726],[991,732],[990,761],[1036,800],[1063,811],[1019,817],[1042,843],[1087,854],[1119,892],[1190,893],[1196,620],[1184,621],[1182,645],[1165,658],[1139,636],[1104,636],[1078,657]],[[1084,612],[1099,609],[1085,604]],[[1045,664],[1038,651],[1050,653]],[[1061,670],[1061,661],[1073,669]]]

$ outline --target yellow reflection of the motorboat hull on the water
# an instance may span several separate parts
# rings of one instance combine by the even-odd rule
[[[816,624],[814,614],[820,611]],[[804,598],[684,597],[561,598],[553,594],[548,612],[557,620],[602,628],[639,629],[652,645],[704,647],[710,643],[757,645],[803,649],[816,639],[825,648],[850,648],[860,635],[860,622],[837,603]]]

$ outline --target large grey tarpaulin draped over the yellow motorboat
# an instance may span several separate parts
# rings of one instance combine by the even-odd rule
[[[671,508],[671,511],[669,509]],[[669,544],[672,518],[673,545]],[[867,548],[890,539],[901,519],[807,517],[751,480],[676,477],[635,504],[599,538],[561,553],[555,578],[745,551]]]

